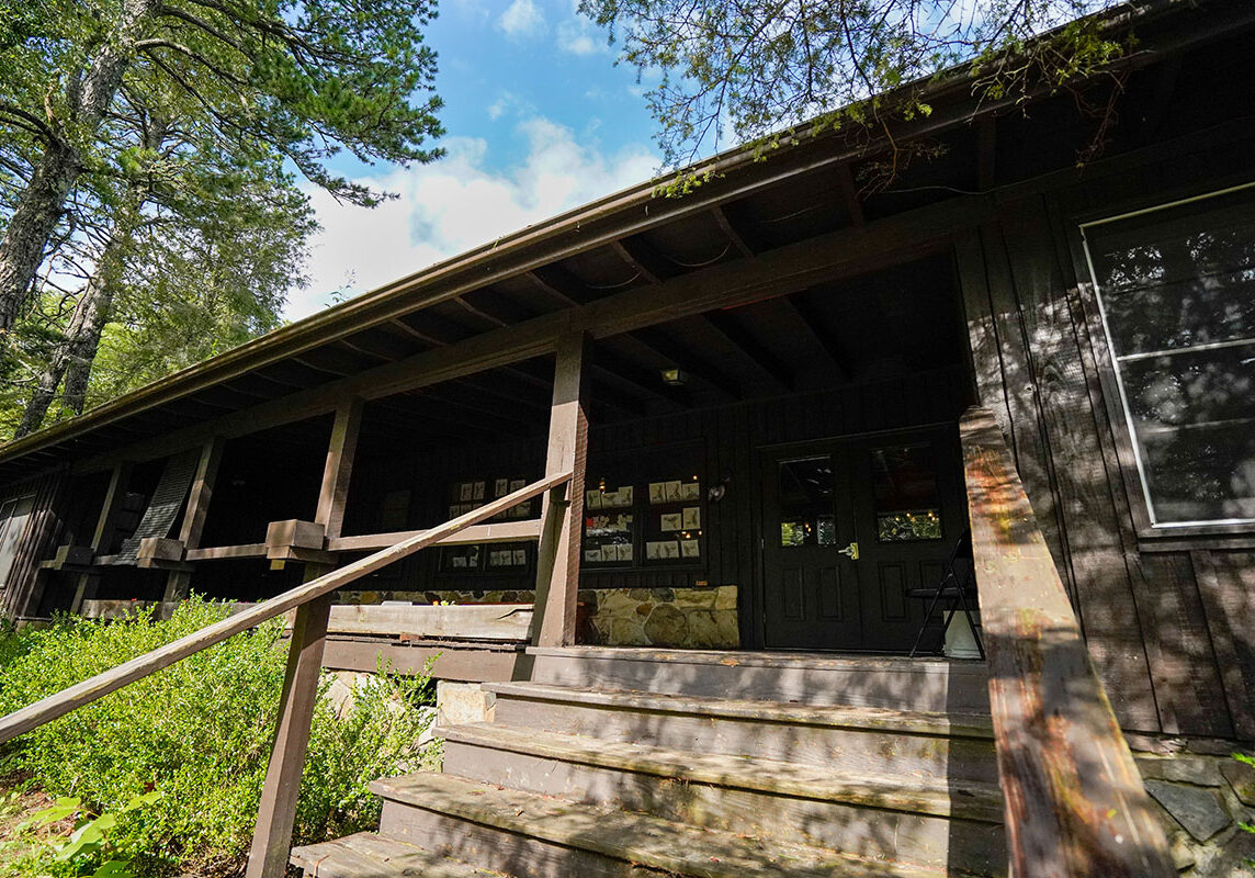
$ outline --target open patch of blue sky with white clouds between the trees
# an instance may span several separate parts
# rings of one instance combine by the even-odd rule
[[[311,197],[324,231],[299,319],[434,261],[648,180],[659,158],[636,72],[572,0],[444,0],[428,30],[448,156],[335,170],[399,197],[374,210]]]

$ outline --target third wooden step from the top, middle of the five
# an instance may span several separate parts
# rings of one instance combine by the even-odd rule
[[[989,874],[1005,862],[996,785],[853,775],[474,724],[438,730],[444,771],[707,829]]]

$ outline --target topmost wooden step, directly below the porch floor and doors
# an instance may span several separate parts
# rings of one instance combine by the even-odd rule
[[[536,683],[989,713],[988,672],[975,661],[645,647],[530,647],[527,653]]]

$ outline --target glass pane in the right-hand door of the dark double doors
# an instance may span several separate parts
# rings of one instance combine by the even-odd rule
[[[931,445],[871,450],[876,539],[881,543],[941,539],[941,497]]]

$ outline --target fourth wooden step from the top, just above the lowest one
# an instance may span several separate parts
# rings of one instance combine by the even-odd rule
[[[787,844],[478,784],[375,781],[380,834],[513,878],[943,878],[944,870]]]

